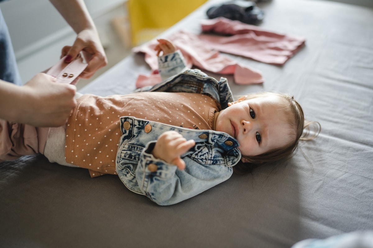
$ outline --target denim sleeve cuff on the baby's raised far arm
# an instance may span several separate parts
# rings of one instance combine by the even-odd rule
[[[188,69],[180,50],[158,57],[158,68],[162,81]]]

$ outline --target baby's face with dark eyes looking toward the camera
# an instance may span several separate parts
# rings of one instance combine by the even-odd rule
[[[229,104],[216,117],[215,130],[226,132],[239,142],[242,155],[256,156],[281,148],[295,138],[283,110],[286,99],[269,95]]]

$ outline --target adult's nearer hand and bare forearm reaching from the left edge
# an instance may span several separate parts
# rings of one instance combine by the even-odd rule
[[[76,106],[76,87],[39,73],[24,86],[1,82],[1,118],[38,127],[65,124]],[[4,106],[4,108],[3,108]]]

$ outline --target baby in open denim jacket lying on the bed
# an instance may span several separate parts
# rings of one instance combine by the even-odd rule
[[[181,52],[158,41],[163,83],[128,95],[79,94],[60,128],[1,121],[1,137],[9,137],[0,159],[41,152],[51,162],[87,168],[91,177],[117,174],[129,190],[169,205],[227,180],[233,168],[245,173],[291,157],[307,139],[309,123],[293,97],[263,92],[234,101],[226,78],[185,68]],[[9,135],[20,125],[33,133],[27,140]]]

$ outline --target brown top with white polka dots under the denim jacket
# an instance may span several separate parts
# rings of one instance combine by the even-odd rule
[[[116,174],[122,135],[119,117],[134,116],[193,129],[212,129],[220,105],[197,93],[140,92],[108,97],[85,94],[66,128],[66,162],[90,170],[91,177]]]

